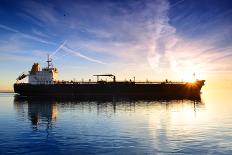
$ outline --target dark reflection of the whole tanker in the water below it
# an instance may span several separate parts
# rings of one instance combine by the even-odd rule
[[[136,113],[143,110],[183,111],[196,113],[204,108],[200,96],[192,99],[141,99],[141,98],[36,98],[14,97],[14,105],[19,115],[27,111],[33,129],[39,125],[52,128],[58,119],[58,111],[81,111],[95,113],[96,116],[112,116],[117,113]],[[70,126],[71,127],[71,126]]]

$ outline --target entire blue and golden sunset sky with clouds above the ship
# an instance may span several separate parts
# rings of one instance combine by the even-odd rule
[[[47,55],[60,80],[232,85],[231,0],[0,0],[0,90]]]

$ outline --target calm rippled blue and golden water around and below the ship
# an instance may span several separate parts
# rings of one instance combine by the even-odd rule
[[[17,100],[0,94],[0,154],[232,154],[232,93],[201,101]]]

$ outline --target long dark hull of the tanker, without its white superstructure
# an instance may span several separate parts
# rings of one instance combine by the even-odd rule
[[[85,82],[38,85],[16,83],[14,91],[21,96],[35,97],[131,96],[178,99],[199,97],[204,82],[204,80],[197,80],[194,83]]]

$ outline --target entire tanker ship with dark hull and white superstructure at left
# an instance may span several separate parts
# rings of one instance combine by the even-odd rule
[[[27,97],[93,97],[93,96],[130,96],[145,98],[194,98],[199,97],[205,80],[194,82],[136,82],[117,81],[113,74],[97,74],[96,81],[77,82],[58,80],[58,69],[49,58],[47,67],[40,68],[34,63],[28,73],[21,74],[14,83],[14,92]],[[27,83],[20,82],[28,77]],[[110,77],[111,81],[101,77]]]

